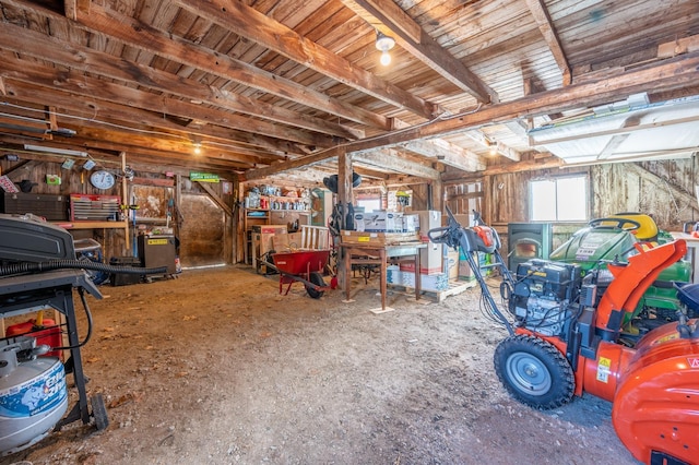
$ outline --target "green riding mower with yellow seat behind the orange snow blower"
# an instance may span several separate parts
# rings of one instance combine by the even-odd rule
[[[606,267],[606,261],[626,261],[638,253],[637,247],[652,247],[672,240],[672,236],[661,231],[650,216],[640,213],[618,213],[591,220],[588,227],[573,234],[568,241],[554,250],[549,259],[577,263],[583,273],[587,273],[594,267]],[[611,273],[607,277],[611,282]],[[642,335],[661,324],[677,320],[676,312],[680,305],[673,283],[690,281],[691,264],[685,260],[663,270],[653,286],[649,287],[639,300],[636,311],[625,318],[625,335]],[[602,297],[604,289],[604,286],[600,287],[597,298]]]

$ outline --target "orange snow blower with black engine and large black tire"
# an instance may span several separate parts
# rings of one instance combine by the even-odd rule
[[[607,270],[532,259],[510,273],[495,229],[463,228],[451,211],[446,227],[429,231],[433,242],[461,247],[482,290],[487,314],[510,333],[495,350],[495,370],[506,390],[534,408],[557,408],[590,393],[613,403],[617,436],[648,464],[699,463],[699,285],[678,288],[679,321],[626,341],[621,325],[645,289],[687,251],[684,240],[652,249],[636,247],[627,262]],[[476,214],[476,218],[478,215]],[[479,222],[479,219],[477,219]],[[487,234],[484,234],[487,231]],[[502,276],[501,311],[478,265],[493,254]]]

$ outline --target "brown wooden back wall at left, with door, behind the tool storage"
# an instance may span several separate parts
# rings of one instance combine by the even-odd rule
[[[233,182],[212,182],[203,187],[191,182],[186,177],[187,171],[165,176],[163,167],[139,165],[134,167],[133,180],[127,182],[125,201],[122,178],[118,178],[115,187],[109,190],[95,189],[90,183],[91,171],[82,168],[84,159],[76,159],[73,167],[66,169],[61,167],[62,159],[59,158],[22,154],[20,160],[10,162],[2,156],[3,153],[0,152],[0,175],[7,175],[15,183],[24,179],[35,182],[32,193],[66,196],[71,193],[119,195],[122,204],[135,201],[139,205],[135,211],[137,234],[157,233],[161,227],[169,224],[182,246],[181,252],[186,257],[180,259],[185,266],[232,263],[234,260],[236,245],[233,216],[236,214],[237,192]],[[122,172],[119,157],[100,160],[92,171],[100,168]],[[47,184],[46,175],[59,175],[60,186]],[[215,201],[212,200],[214,198]],[[94,238],[99,241],[107,262],[111,257],[134,254],[133,247],[126,247],[125,233],[123,228],[71,230],[75,239]],[[131,222],[128,234],[132,246],[135,235]],[[215,257],[211,251],[214,251]]]

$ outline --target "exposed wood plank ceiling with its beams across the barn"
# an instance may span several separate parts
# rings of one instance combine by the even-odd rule
[[[318,182],[560,164],[528,128],[699,94],[697,0],[0,0],[0,150]],[[377,31],[394,38],[379,63]],[[196,154],[200,148],[200,154]],[[412,179],[411,178],[411,179]]]

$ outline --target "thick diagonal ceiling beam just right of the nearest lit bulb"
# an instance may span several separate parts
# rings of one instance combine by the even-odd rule
[[[393,0],[342,0],[342,2],[374,28],[393,37],[401,48],[457,87],[474,96],[476,100],[484,104],[499,102],[497,92],[445,50]]]

